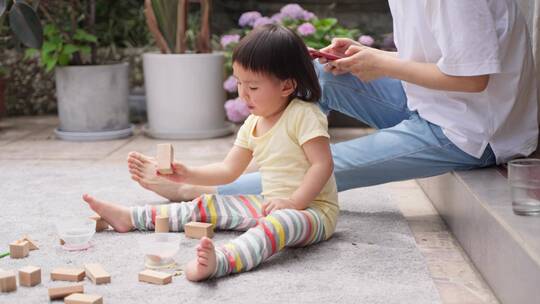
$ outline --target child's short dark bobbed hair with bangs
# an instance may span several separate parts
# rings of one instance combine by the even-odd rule
[[[290,99],[317,102],[321,87],[304,41],[292,30],[276,24],[259,26],[233,51],[232,61],[256,73],[296,81]]]

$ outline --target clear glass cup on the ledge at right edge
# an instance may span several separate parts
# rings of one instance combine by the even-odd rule
[[[508,163],[512,210],[517,215],[540,215],[540,159],[515,159]]]

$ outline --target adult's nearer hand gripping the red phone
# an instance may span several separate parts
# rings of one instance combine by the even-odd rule
[[[345,55],[346,58],[331,63],[337,71],[349,72],[366,82],[385,76],[382,66],[388,56],[381,51],[363,45],[352,45],[345,51]]]

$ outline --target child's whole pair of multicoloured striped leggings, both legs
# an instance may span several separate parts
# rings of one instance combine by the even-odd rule
[[[325,240],[323,218],[314,208],[281,209],[264,216],[260,195],[203,195],[191,202],[132,207],[133,225],[153,230],[157,215],[169,217],[170,231],[191,222],[207,222],[221,230],[246,231],[216,248],[212,277],[249,271],[285,246],[307,246]]]

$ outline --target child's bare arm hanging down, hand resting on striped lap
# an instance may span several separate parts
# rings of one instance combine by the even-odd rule
[[[319,195],[334,171],[334,161],[330,151],[330,140],[320,136],[313,138],[302,145],[311,166],[304,175],[300,187],[294,191],[290,198],[270,199],[263,204],[266,214],[278,209],[306,209]]]

